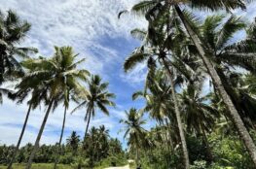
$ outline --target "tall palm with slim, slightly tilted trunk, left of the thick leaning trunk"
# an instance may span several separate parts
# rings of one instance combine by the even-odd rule
[[[169,14],[166,14],[169,16]],[[140,37],[143,39],[143,44],[140,48],[136,49],[135,51],[132,52],[130,56],[128,56],[124,68],[125,71],[128,71],[129,69],[133,68],[137,63],[143,62],[147,60],[148,67],[152,67],[157,64],[163,65],[165,68],[166,75],[169,80],[169,85],[170,85],[170,92],[172,101],[174,104],[174,113],[175,117],[177,120],[178,128],[179,128],[179,134],[180,134],[180,139],[182,143],[182,150],[183,150],[183,157],[184,157],[184,165],[186,168],[189,167],[189,155],[188,155],[188,150],[187,150],[187,145],[186,145],[186,140],[185,140],[185,135],[183,131],[183,126],[180,118],[180,110],[179,110],[179,103],[177,100],[176,96],[176,91],[175,91],[175,83],[174,83],[174,77],[175,72],[174,68],[182,74],[187,74],[188,72],[185,71],[186,69],[182,69],[185,65],[182,62],[176,62],[176,64],[173,63],[173,57],[174,53],[169,53],[170,49],[174,48],[181,48],[179,46],[180,40],[183,39],[184,33],[181,29],[175,29],[173,34],[176,36],[170,36],[170,32],[165,31],[166,28],[168,28],[169,24],[175,24],[177,27],[179,27],[179,23],[177,22],[176,19],[169,20],[168,24],[163,23],[163,20],[169,20],[168,17],[162,17],[162,19],[159,19],[157,22],[154,22],[154,25],[156,27],[149,27],[148,32],[143,32],[143,31],[132,31],[131,33],[135,35],[136,37]],[[166,25],[166,26],[165,26]],[[138,36],[139,35],[139,36]],[[156,63],[156,60],[158,60],[159,63]],[[187,76],[189,79],[189,76]]]

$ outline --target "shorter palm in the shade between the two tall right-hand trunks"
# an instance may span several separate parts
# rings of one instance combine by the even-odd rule
[[[208,97],[201,94],[201,83],[188,84],[187,88],[180,94],[180,102],[185,113],[188,131],[195,131],[202,136],[206,146],[207,160],[212,162],[212,154],[209,148],[206,133],[212,131],[216,118],[220,118],[217,109],[211,107],[207,102]]]

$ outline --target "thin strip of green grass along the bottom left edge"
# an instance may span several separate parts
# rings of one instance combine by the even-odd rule
[[[0,169],[6,169],[7,166],[0,165]],[[54,164],[53,163],[38,163],[38,164],[33,164],[32,169],[53,169]],[[14,169],[24,169],[25,164],[14,164],[13,165]],[[73,169],[70,165],[63,165],[63,164],[58,164],[57,165],[58,169]]]

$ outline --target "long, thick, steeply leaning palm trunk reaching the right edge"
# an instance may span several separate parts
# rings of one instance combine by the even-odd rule
[[[240,3],[238,4],[238,2],[240,2]],[[228,4],[228,3],[230,3],[230,4]],[[211,8],[211,9],[214,8],[214,6],[210,7],[209,4],[210,3],[200,4],[200,5],[204,9],[205,8]],[[227,2],[227,4],[226,3],[218,4],[215,6],[215,8],[216,9],[223,9],[223,8],[234,9],[234,8],[240,7],[240,6],[244,7],[243,4],[241,3],[241,1],[235,1],[235,2],[233,1],[233,2]],[[224,86],[221,82],[221,79],[213,66],[212,61],[209,59],[209,56],[214,55],[214,51],[212,51],[212,49],[205,51],[205,47],[203,47],[203,45],[202,45],[203,43],[201,42],[199,35],[197,35],[197,33],[193,30],[192,26],[189,24],[188,20],[186,19],[186,17],[182,13],[182,11],[180,10],[178,5],[175,5],[175,10],[176,10],[177,14],[179,15],[179,17],[181,18],[184,26],[186,27],[192,41],[194,42],[195,46],[197,47],[197,49],[200,53],[201,59],[204,63],[204,66],[207,68],[207,71],[213,81],[213,84],[216,86],[219,94],[223,98],[223,101],[229,110],[230,117],[232,118],[233,122],[235,123],[235,125],[238,129],[238,134],[239,134],[241,140],[243,141],[247,151],[249,152],[249,154],[254,162],[254,165],[256,166],[255,144],[253,143],[253,140],[252,140],[249,132],[247,131],[246,127],[244,126],[242,119],[239,117],[238,110],[236,109],[234,103],[232,102],[230,95],[224,88]],[[212,10],[214,10],[214,9],[212,9]]]

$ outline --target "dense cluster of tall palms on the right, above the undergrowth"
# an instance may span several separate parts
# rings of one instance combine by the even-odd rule
[[[139,2],[131,9],[131,13],[148,21],[147,30],[131,31],[142,44],[124,64],[125,71],[140,62],[148,67],[145,89],[135,92],[133,98],[142,96],[146,100],[141,112],[148,112],[160,124],[178,128],[186,169],[190,160],[185,129],[201,134],[207,142],[206,133],[222,117],[232,121],[256,167],[256,147],[248,132],[255,128],[256,115],[253,82],[256,24],[248,26],[232,14],[226,17],[216,14],[201,21],[192,13],[195,9],[230,13],[246,9],[245,3],[242,0],[150,0]],[[128,11],[121,12],[119,17],[125,12]],[[242,30],[246,31],[246,37],[234,40]],[[207,81],[210,83],[206,86]],[[203,93],[205,88],[212,93]],[[218,103],[214,102],[216,99]],[[128,121],[134,124],[129,128],[136,126],[132,131],[137,131],[137,136],[143,133],[135,122],[139,118],[128,118]],[[128,130],[130,141],[132,131]]]

